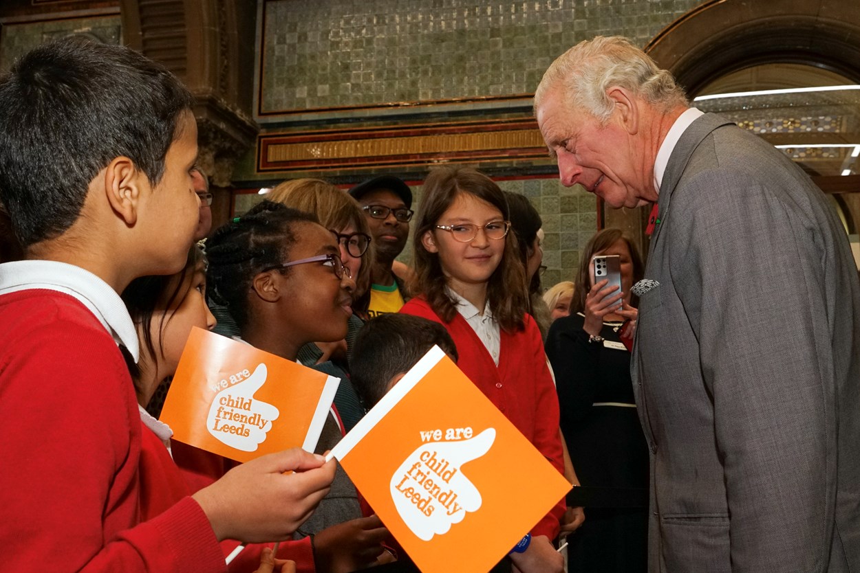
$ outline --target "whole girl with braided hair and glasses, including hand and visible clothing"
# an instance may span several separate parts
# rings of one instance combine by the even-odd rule
[[[263,201],[216,230],[206,255],[210,295],[236,320],[236,338],[295,361],[304,344],[346,336],[355,282],[341,261],[338,237],[316,216]],[[316,453],[341,437],[333,408]],[[178,442],[174,456],[194,479],[218,479],[224,471],[223,459]],[[295,559],[298,569],[352,571],[376,564],[387,531],[377,516],[361,515],[355,487],[338,467],[329,495],[294,535],[312,551],[310,564]]]

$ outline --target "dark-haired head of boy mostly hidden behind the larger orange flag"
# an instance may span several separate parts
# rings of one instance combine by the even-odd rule
[[[457,346],[438,322],[411,314],[380,314],[367,321],[349,359],[353,385],[365,407],[376,405],[434,344],[457,362]]]

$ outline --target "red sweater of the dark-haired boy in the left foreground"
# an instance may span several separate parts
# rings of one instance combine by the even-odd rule
[[[81,302],[0,296],[3,570],[225,569],[192,498],[141,521],[140,430],[126,363]]]

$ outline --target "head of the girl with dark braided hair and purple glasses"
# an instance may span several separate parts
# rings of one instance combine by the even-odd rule
[[[346,335],[355,282],[343,266],[335,236],[315,216],[263,201],[219,228],[206,241],[206,255],[210,294],[228,308],[249,344],[295,360],[305,342]],[[308,257],[319,259],[285,266],[290,259]],[[338,280],[317,280],[333,275]],[[304,278],[312,279],[309,289],[292,288],[303,285]],[[275,327],[288,332],[274,337]],[[307,338],[308,330],[318,338]],[[304,340],[296,345],[298,339]]]

